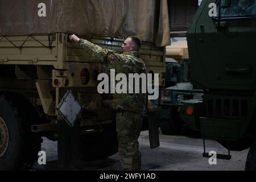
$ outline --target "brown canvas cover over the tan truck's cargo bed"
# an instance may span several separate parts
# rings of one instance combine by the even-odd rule
[[[45,16],[40,14],[42,3]],[[84,38],[137,35],[162,47],[170,45],[169,29],[167,0],[0,0],[0,37],[55,32]]]

